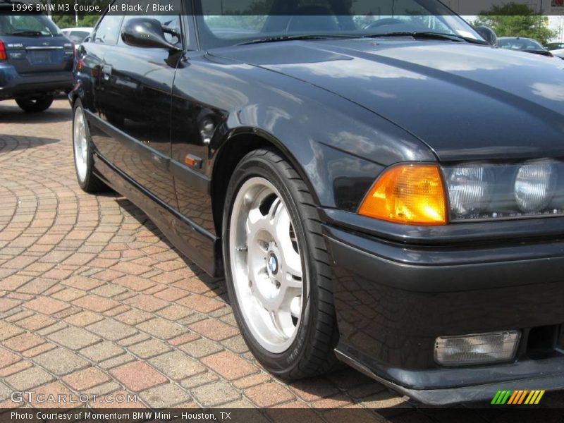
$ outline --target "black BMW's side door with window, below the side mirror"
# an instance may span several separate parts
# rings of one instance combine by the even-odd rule
[[[134,18],[154,18],[173,28],[179,35],[167,35],[168,41],[181,45],[180,14],[125,16],[121,28]],[[178,204],[170,171],[171,90],[179,58],[168,49],[128,46],[120,36],[104,51],[95,90],[112,139],[111,148],[105,149],[108,159],[133,183],[174,209]]]

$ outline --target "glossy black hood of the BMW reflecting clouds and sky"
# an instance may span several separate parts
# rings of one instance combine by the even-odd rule
[[[415,135],[441,161],[564,157],[558,59],[411,38],[275,42],[210,54],[338,94]]]

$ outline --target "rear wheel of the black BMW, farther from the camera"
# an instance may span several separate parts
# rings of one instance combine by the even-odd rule
[[[107,185],[94,174],[92,141],[80,100],[75,102],[73,116],[73,152],[78,185],[85,192],[108,190]]]

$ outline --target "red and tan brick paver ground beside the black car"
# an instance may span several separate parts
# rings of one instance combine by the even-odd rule
[[[0,103],[0,281],[1,407],[15,405],[13,391],[124,392],[149,407],[362,407],[377,421],[427,420],[352,369],[290,385],[264,372],[221,281],[123,197],[78,188],[63,99],[35,116]]]

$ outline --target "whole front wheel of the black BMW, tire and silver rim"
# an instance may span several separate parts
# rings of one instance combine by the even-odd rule
[[[276,152],[238,164],[226,196],[229,298],[257,360],[284,379],[329,371],[338,334],[331,271],[312,195]]]

